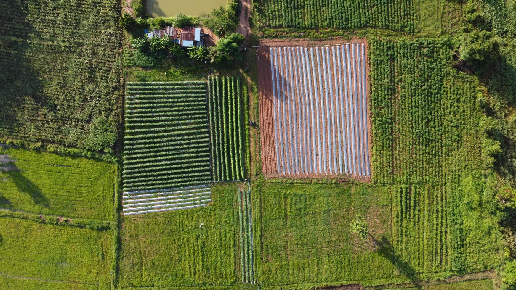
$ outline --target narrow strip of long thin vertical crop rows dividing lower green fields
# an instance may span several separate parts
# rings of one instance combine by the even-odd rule
[[[244,284],[254,284],[253,223],[251,216],[251,190],[238,189],[240,268],[242,283]]]

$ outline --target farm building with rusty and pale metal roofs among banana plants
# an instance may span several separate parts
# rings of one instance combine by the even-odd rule
[[[181,44],[183,47],[201,46],[204,45],[203,30],[199,27],[185,26],[172,27],[166,26],[165,29],[145,30],[148,38],[159,37],[165,35],[170,36],[174,42]]]

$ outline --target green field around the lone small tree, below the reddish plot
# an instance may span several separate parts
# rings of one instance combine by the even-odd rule
[[[407,281],[392,263],[391,200],[383,187],[265,183],[254,191],[253,209],[260,283],[313,288]],[[369,224],[365,241],[349,232],[357,213]]]

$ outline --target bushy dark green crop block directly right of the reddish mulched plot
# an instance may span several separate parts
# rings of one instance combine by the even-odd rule
[[[374,181],[441,184],[445,178],[446,158],[477,118],[473,84],[447,79],[447,59],[441,43],[373,40]]]

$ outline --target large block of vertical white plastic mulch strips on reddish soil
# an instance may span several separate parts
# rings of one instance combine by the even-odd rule
[[[370,176],[365,45],[269,49],[278,173]]]

